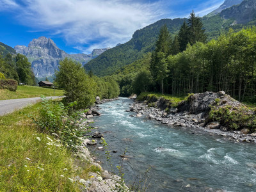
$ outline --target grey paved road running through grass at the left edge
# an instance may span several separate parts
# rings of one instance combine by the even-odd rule
[[[46,97],[47,99],[57,99],[60,97]],[[24,108],[28,104],[40,101],[40,97],[0,100],[0,116],[6,113],[12,113],[16,109]]]

